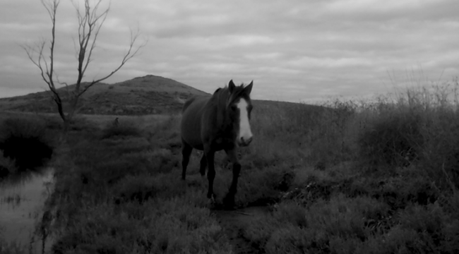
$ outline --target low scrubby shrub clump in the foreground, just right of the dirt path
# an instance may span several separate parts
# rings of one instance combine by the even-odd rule
[[[362,241],[381,233],[388,206],[371,198],[318,200],[309,208],[282,202],[264,222],[255,221],[244,236],[266,253],[353,253]],[[373,233],[374,232],[374,233]]]

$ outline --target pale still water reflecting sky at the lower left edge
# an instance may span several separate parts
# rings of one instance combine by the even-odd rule
[[[44,169],[0,182],[0,238],[20,245],[30,243],[35,222],[41,219],[44,201],[51,194],[53,174],[52,169]]]

